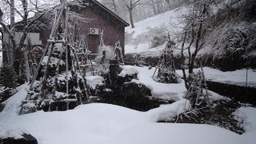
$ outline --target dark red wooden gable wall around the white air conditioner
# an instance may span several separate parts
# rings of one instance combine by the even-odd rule
[[[83,18],[87,18],[87,22],[79,24],[79,30],[82,34],[85,34],[88,42],[89,50],[92,54],[98,53],[98,45],[100,44],[99,35],[89,34],[90,28],[98,28],[103,30],[103,40],[106,46],[114,46],[117,42],[117,38],[122,46],[122,53],[124,54],[124,43],[125,43],[125,24],[122,23],[118,18],[102,9],[94,2],[90,2],[89,6],[85,8],[71,8],[79,14],[82,14]],[[46,45],[47,39],[50,36],[50,29],[42,30],[42,44]]]

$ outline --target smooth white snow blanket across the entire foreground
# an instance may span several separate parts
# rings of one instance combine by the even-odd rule
[[[22,86],[17,94],[4,102],[6,107],[0,113],[0,138],[10,134],[18,138],[18,131],[24,131],[34,135],[39,144],[253,144],[256,141],[256,109],[253,107],[240,108],[234,113],[243,122],[246,130],[242,135],[217,126],[158,123],[159,120],[174,118],[190,109],[190,102],[186,99],[146,112],[91,103],[78,106],[74,110],[38,111],[18,116],[18,106],[26,97],[26,88],[26,85]]]

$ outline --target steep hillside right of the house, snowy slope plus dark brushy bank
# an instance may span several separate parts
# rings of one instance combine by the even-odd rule
[[[206,19],[202,47],[197,56],[204,66],[220,70],[256,68],[256,2],[241,2],[226,1],[212,6],[213,14]],[[160,51],[166,47],[168,33],[176,43],[174,55],[178,59],[184,33],[182,27],[186,26],[181,23],[181,16],[186,13],[187,7],[182,6],[137,22],[134,29],[126,27],[126,61],[131,62],[139,55],[138,59],[155,66]],[[185,47],[189,43],[186,41]],[[194,50],[194,44],[191,49]],[[184,52],[187,57],[187,51]]]

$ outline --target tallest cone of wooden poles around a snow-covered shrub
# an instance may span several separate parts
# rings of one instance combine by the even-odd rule
[[[86,79],[82,76],[76,53],[78,45],[74,42],[74,34],[69,30],[68,15],[66,0],[62,0],[23,107],[27,102],[33,102],[40,110],[54,102],[66,102],[68,109],[70,102],[77,105],[90,102]],[[82,43],[82,46],[84,44]],[[56,109],[60,110],[60,106]],[[22,110],[20,114],[25,114]]]

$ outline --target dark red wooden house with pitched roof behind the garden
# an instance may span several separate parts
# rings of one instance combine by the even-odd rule
[[[125,27],[129,26],[122,18],[114,14],[112,11],[103,6],[97,0],[83,0],[83,6],[70,5],[70,11],[80,14],[86,18],[86,22],[78,25],[81,34],[85,34],[88,49],[92,54],[98,53],[98,46],[100,44],[100,32],[103,30],[103,40],[106,46],[114,47],[115,42],[119,41],[124,54],[125,43]],[[30,41],[33,45],[46,46],[47,40],[50,37],[50,26],[43,30],[30,31]],[[18,34],[15,34],[15,37]],[[10,48],[8,49],[8,34],[2,31],[2,48],[6,50],[3,54],[3,62],[7,61],[7,56],[11,57]],[[25,43],[26,45],[26,43]],[[6,54],[5,54],[6,53]]]

